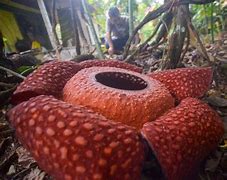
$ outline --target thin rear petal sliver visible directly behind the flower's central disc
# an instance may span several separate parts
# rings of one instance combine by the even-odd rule
[[[89,67],[116,67],[116,68],[122,68],[127,69],[130,71],[142,73],[143,69],[140,67],[137,67],[135,65],[122,62],[120,60],[88,60],[80,63],[82,68],[89,68]]]

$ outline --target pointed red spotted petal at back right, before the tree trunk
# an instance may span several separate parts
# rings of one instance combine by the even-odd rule
[[[212,82],[211,68],[179,68],[153,72],[148,76],[162,82],[181,101],[187,97],[202,97]]]

